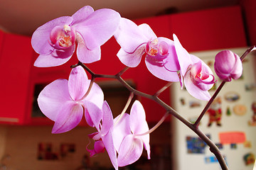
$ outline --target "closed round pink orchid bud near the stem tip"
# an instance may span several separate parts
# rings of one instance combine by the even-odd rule
[[[242,62],[234,52],[223,50],[215,56],[214,69],[220,79],[231,81],[241,77]]]

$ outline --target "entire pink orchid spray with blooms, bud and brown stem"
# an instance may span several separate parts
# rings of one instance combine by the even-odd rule
[[[100,46],[112,36],[121,47],[117,57],[127,67],[116,75],[95,74],[85,64],[100,60]],[[31,43],[39,54],[34,63],[36,67],[59,66],[70,60],[74,52],[79,60],[72,66],[68,80],[53,81],[38,96],[39,108],[55,122],[53,133],[72,130],[85,115],[87,125],[97,130],[88,135],[95,141],[93,149],[87,148],[88,152],[93,156],[106,149],[114,169],[118,169],[119,166],[136,162],[142,155],[143,147],[150,159],[149,134],[158,128],[168,115],[173,115],[206,142],[223,170],[228,169],[218,147],[201,132],[198,125],[225,81],[241,76],[242,60],[249,52],[255,50],[255,47],[250,47],[240,58],[228,50],[216,55],[215,72],[223,82],[215,94],[210,96],[208,90],[216,81],[213,72],[201,59],[190,55],[175,34],[173,40],[157,37],[146,23],[137,26],[112,9],[94,11],[91,6],[84,6],[73,16],[55,18],[33,33]],[[122,74],[129,67],[137,67],[142,57],[151,74],[168,81],[166,86],[154,95],[137,91],[122,79]],[[87,78],[85,71],[92,79]],[[99,77],[117,79],[131,92],[127,105],[117,118],[113,118],[110,106],[104,101],[102,89],[95,83],[95,79]],[[181,84],[181,89],[185,86],[191,96],[208,101],[196,123],[189,123],[158,97],[171,82],[176,81]],[[134,95],[149,98],[166,109],[163,118],[150,130],[142,103],[135,101],[130,113],[126,113]]]

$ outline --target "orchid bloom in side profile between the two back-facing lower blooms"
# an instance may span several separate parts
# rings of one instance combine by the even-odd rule
[[[98,131],[89,135],[90,138],[95,140],[95,145],[94,149],[87,149],[87,151],[90,152],[90,156],[92,157],[95,154],[104,152],[106,149],[114,169],[118,169],[117,152],[114,149],[114,141],[112,138],[114,120],[110,106],[107,104],[107,101],[104,101],[102,110],[96,105],[90,105],[87,110],[90,113],[94,113],[91,118]],[[100,123],[101,120],[102,124]]]

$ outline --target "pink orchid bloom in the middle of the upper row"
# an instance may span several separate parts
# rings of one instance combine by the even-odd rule
[[[126,18],[121,18],[114,38],[121,46],[117,57],[127,67],[137,67],[146,53],[146,67],[151,74],[166,81],[179,81],[179,65],[172,40],[157,38],[149,25],[137,26]]]

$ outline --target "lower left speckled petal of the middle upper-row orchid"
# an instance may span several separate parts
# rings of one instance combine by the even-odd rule
[[[117,53],[119,60],[128,67],[137,67],[144,55],[145,46],[141,45],[132,53],[125,52],[122,48]]]

